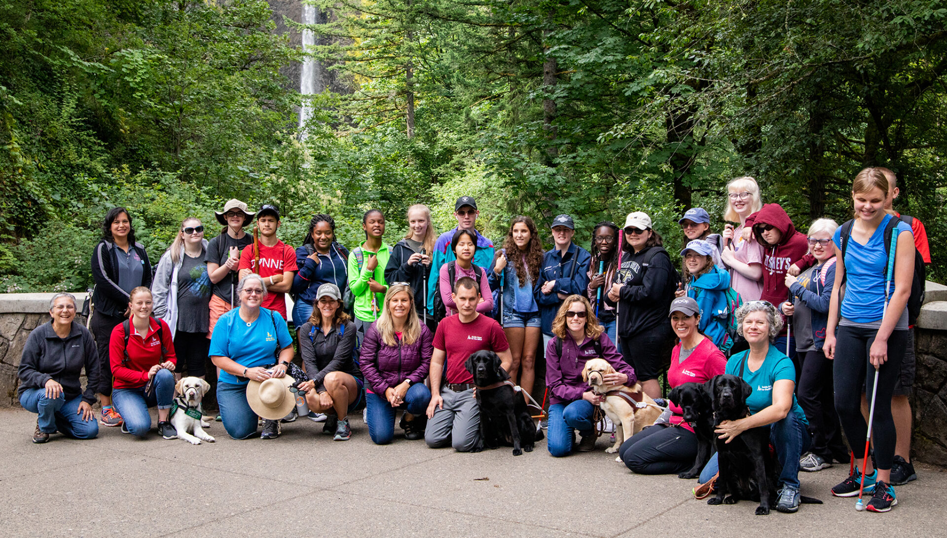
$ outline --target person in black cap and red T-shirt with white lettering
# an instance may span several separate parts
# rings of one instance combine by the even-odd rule
[[[284,295],[293,286],[293,276],[298,270],[295,264],[295,250],[292,246],[277,239],[279,229],[279,211],[269,204],[257,212],[259,227],[259,269],[254,263],[253,243],[243,247],[240,255],[240,278],[250,273],[259,273],[266,282],[266,299],[262,306],[275,310],[286,319],[286,299]]]

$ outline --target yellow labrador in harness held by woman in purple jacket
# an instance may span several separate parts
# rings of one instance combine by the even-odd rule
[[[608,361],[589,359],[582,369],[582,381],[589,384],[592,392],[605,397],[599,407],[615,422],[615,444],[605,452],[614,454],[625,439],[652,425],[661,415],[661,408],[637,383],[634,386],[606,385],[605,375],[610,373],[616,373],[616,369]]]

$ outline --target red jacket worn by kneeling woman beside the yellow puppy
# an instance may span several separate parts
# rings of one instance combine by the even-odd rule
[[[112,330],[109,338],[109,361],[112,364],[112,375],[115,376],[115,388],[138,388],[148,383],[148,370],[154,365],[170,361],[177,365],[177,356],[174,354],[174,343],[171,341],[171,330],[164,319],[152,317],[148,332],[142,338],[134,332],[134,326],[129,321],[132,334],[128,337],[128,363],[122,364],[125,359],[125,324],[119,323]],[[158,323],[161,324],[161,339],[158,339]],[[161,356],[161,345],[164,344],[166,354]]]

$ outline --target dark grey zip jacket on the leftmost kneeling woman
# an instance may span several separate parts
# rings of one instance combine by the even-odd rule
[[[85,367],[88,376],[85,390],[79,376]],[[53,331],[52,321],[29,333],[27,344],[20,359],[20,386],[17,396],[27,388],[43,388],[50,379],[63,386],[66,400],[82,395],[82,400],[96,403],[96,387],[99,377],[98,350],[92,332],[75,321],[65,338]]]

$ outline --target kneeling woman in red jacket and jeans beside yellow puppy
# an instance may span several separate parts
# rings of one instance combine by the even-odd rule
[[[177,357],[170,327],[152,317],[152,291],[138,286],[128,297],[129,319],[116,325],[109,341],[115,376],[112,404],[125,420],[122,433],[144,437],[152,429],[148,408],[158,407],[158,433],[177,439],[168,415],[174,400]]]

